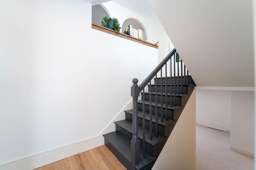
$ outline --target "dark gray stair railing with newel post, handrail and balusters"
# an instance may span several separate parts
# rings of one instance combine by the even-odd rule
[[[132,80],[132,87],[131,87],[131,96],[133,99],[133,116],[132,116],[132,140],[131,140],[131,170],[135,169],[136,164],[140,162],[140,141],[138,138],[138,97],[140,96],[140,92],[142,92],[142,98],[143,98],[143,119],[142,119],[142,126],[143,126],[143,141],[142,141],[142,150],[143,150],[143,157],[145,158],[145,98],[144,98],[144,93],[145,93],[145,87],[149,84],[149,95],[150,95],[150,124],[149,124],[149,129],[150,129],[150,140],[152,140],[152,90],[151,90],[151,80],[155,77],[155,90],[156,90],[156,95],[155,95],[155,101],[156,101],[156,137],[158,137],[158,101],[157,101],[157,87],[158,87],[158,79],[157,79],[157,74],[160,71],[160,88],[161,88],[161,109],[160,109],[160,116],[161,116],[161,122],[164,120],[164,115],[163,115],[163,90],[162,90],[162,67],[165,66],[165,101],[166,101],[166,109],[165,109],[165,117],[166,121],[168,121],[168,102],[167,102],[167,63],[170,60],[170,107],[176,106],[176,71],[175,71],[175,63],[176,63],[176,49],[174,48],[165,58],[164,60],[156,66],[156,68],[146,77],[146,79],[138,86],[138,79],[134,78]],[[173,57],[173,62],[174,62],[174,90],[173,90],[173,97],[172,97],[172,56]],[[181,63],[181,71],[179,71],[179,63]],[[188,84],[188,71],[186,75],[186,66],[184,65],[184,81],[183,81],[183,72],[182,72],[182,61],[178,62],[178,94],[183,94],[183,82],[184,84]],[[180,75],[181,72],[181,75]],[[187,78],[186,78],[187,76]],[[180,84],[181,83],[181,84]],[[180,86],[181,85],[181,90]],[[181,92],[180,92],[181,91]],[[172,102],[174,100],[174,102]]]

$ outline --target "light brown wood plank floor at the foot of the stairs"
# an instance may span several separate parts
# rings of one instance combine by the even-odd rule
[[[126,168],[105,145],[102,145],[36,170],[126,170]]]

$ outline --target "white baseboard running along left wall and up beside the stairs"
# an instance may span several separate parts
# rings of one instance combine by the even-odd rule
[[[124,110],[128,109],[132,109],[132,100],[130,100],[122,111],[120,111],[120,113],[118,113],[116,117],[114,117],[114,119],[112,119],[112,121],[104,128],[104,130],[95,137],[3,163],[0,165],[0,170],[33,170],[86,150],[104,145],[104,137],[102,135],[115,131],[114,122],[124,119]]]

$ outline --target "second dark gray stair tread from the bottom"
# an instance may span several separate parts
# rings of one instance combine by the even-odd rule
[[[124,120],[116,121],[115,123],[120,127],[122,127],[123,129],[125,129],[126,131],[129,131],[130,133],[132,133],[132,122],[124,119]],[[138,137],[140,139],[143,139],[143,129],[141,126],[138,126]],[[154,146],[166,140],[167,140],[167,137],[163,137],[161,135],[158,135],[158,137],[156,137],[156,134],[154,132],[152,132],[152,140],[150,140],[150,131],[148,129],[145,129],[145,141],[150,145]]]

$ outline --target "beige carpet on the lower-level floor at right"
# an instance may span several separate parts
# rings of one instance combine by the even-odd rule
[[[196,125],[197,170],[253,170],[254,158],[229,147],[230,133]]]

